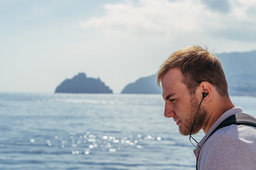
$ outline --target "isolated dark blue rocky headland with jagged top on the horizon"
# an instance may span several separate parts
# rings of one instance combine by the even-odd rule
[[[112,94],[113,92],[110,87],[100,81],[100,78],[87,78],[85,73],[79,73],[72,79],[65,79],[55,89],[55,93]]]

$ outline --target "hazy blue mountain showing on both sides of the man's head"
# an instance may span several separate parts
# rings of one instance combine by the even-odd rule
[[[216,54],[223,65],[230,95],[256,96],[256,50]],[[122,94],[161,94],[156,77],[143,77],[124,87]]]

